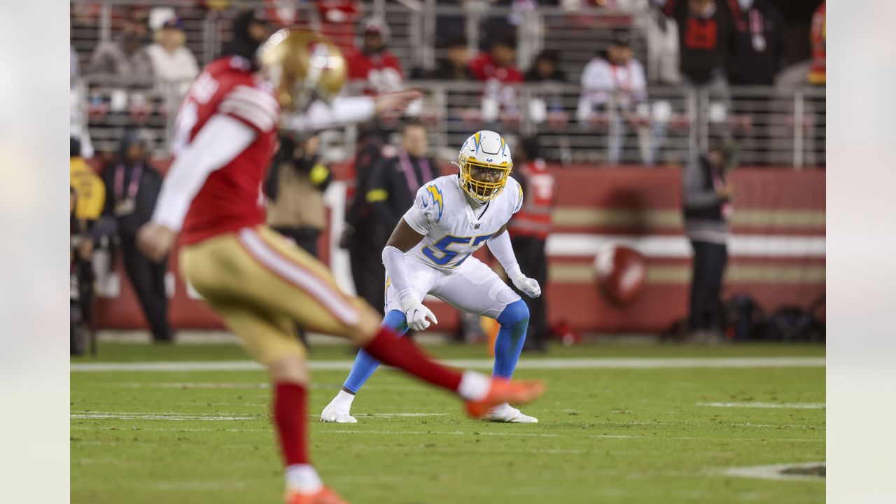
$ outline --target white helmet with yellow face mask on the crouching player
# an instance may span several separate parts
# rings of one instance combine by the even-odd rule
[[[458,153],[461,187],[470,197],[487,202],[504,190],[513,169],[510,147],[504,137],[482,130],[470,135]]]

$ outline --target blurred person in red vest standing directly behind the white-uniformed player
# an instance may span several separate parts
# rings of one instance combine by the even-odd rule
[[[554,176],[541,160],[538,138],[521,138],[513,150],[513,178],[522,187],[522,208],[513,215],[510,231],[513,252],[526,274],[547,285],[547,233],[551,230],[551,209],[555,203]],[[514,291],[520,293],[515,287]],[[547,352],[550,331],[547,326],[547,289],[538,298],[521,296],[529,307],[529,335],[524,352]]]

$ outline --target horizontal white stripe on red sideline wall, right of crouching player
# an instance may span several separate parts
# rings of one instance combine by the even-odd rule
[[[595,256],[609,245],[625,245],[648,257],[690,257],[693,252],[684,236],[593,235],[555,233],[547,237],[548,256]],[[823,257],[824,237],[734,235],[728,240],[729,254],[741,257]]]

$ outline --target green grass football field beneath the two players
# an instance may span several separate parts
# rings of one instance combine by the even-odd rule
[[[443,359],[486,358],[483,346],[429,350]],[[107,343],[100,352],[73,363],[246,360],[224,344]],[[822,346],[599,344],[556,347],[547,357],[823,355]],[[352,358],[343,346],[318,346],[312,355]],[[389,369],[358,395],[357,424],[324,424],[317,415],[347,371],[315,370],[312,457],[323,480],[355,504],[823,502],[823,478],[724,471],[825,460],[824,368],[720,365],[519,369],[518,378],[547,381],[547,394],[523,408],[538,417],[534,425],[472,421],[451,395]],[[281,502],[269,394],[261,370],[73,370],[72,502]]]

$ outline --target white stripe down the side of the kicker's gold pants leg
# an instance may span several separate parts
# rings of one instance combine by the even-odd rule
[[[272,249],[271,246],[265,243],[255,230],[243,228],[239,231],[239,240],[249,249],[249,253],[263,265],[267,265],[290,282],[307,291],[314,299],[321,301],[334,316],[339,317],[343,324],[354,326],[358,323],[360,319],[358,310],[350,306],[342,294],[334,292],[330,285],[280,256],[280,252]]]

